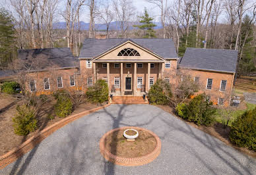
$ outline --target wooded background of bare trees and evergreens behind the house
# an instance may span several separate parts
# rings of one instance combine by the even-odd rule
[[[16,49],[70,47],[79,55],[84,38],[93,38],[96,22],[105,24],[107,37],[172,38],[177,53],[186,47],[236,49],[238,75],[255,71],[256,1],[144,0],[158,9],[137,11],[132,0],[8,0],[0,11],[0,59],[5,69]],[[81,14],[90,19],[81,30]],[[65,20],[65,28],[55,26]],[[152,21],[159,21],[154,28]],[[115,22],[115,28],[111,27]],[[144,26],[144,27],[143,27]],[[148,28],[148,26],[150,26]],[[102,31],[101,31],[102,32]]]

